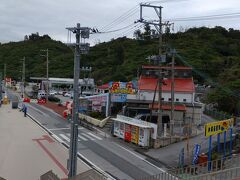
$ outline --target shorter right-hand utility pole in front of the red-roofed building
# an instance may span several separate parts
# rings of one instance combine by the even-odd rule
[[[172,50],[172,67],[171,67],[171,120],[170,120],[170,134],[173,135],[173,129],[174,129],[174,88],[175,88],[175,54],[176,50]]]

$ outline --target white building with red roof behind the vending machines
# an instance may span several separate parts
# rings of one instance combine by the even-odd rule
[[[174,123],[179,132],[186,124],[201,124],[202,104],[195,102],[195,86],[192,68],[176,66],[174,74]],[[159,72],[162,73],[161,88],[158,87]],[[158,94],[162,95],[162,123],[169,127],[171,119],[171,67],[142,66],[138,80],[138,92],[127,95],[125,115],[157,123]],[[151,117],[150,117],[151,114]],[[180,127],[180,129],[179,129]]]

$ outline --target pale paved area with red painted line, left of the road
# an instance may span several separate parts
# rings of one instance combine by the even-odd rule
[[[0,177],[39,179],[52,170],[67,177],[68,150],[11,105],[0,108]],[[78,173],[90,168],[78,161]]]

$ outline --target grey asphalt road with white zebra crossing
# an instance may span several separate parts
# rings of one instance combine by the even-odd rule
[[[13,95],[8,92],[9,97]],[[28,114],[36,119],[44,128],[55,134],[61,141],[70,142],[70,123],[60,115],[38,104],[27,104]],[[162,168],[153,165],[147,158],[138,154],[114,138],[105,137],[83,127],[79,127],[78,152],[95,166],[118,179],[139,179],[159,174]]]

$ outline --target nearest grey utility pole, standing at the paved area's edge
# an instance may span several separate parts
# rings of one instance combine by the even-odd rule
[[[68,159],[68,177],[73,177],[77,172],[77,143],[78,143],[78,108],[79,108],[79,75],[80,75],[80,54],[84,53],[88,49],[89,44],[80,43],[81,38],[89,38],[89,28],[80,27],[77,23],[77,27],[66,28],[67,30],[76,34],[76,43],[69,44],[75,46],[75,57],[74,57],[74,84],[73,84],[73,114],[71,121],[71,137],[70,137],[70,149]]]

